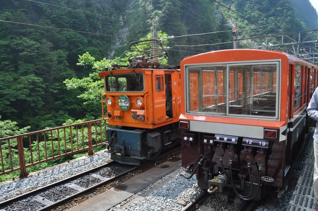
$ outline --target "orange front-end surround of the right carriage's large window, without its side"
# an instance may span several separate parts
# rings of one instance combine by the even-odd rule
[[[245,53],[243,53],[245,51]],[[249,51],[249,53],[246,53]],[[281,52],[273,51],[260,51],[260,50],[221,50],[212,51],[204,54],[199,54],[196,56],[187,57],[181,62],[181,78],[184,78],[184,66],[186,64],[204,64],[204,63],[228,63],[228,62],[241,62],[241,61],[259,61],[259,60],[282,60],[282,75],[288,74],[288,57],[286,54]],[[299,60],[301,61],[301,60]],[[231,75],[230,75],[231,76]],[[254,76],[255,77],[255,76]],[[257,76],[256,76],[257,77]],[[259,77],[259,76],[258,76]],[[191,80],[191,79],[190,79]],[[281,90],[281,108],[287,107],[287,77],[282,77]],[[229,92],[231,89],[229,90]],[[234,91],[234,90],[233,90]],[[184,93],[184,80],[181,82],[181,92]],[[236,117],[220,117],[220,116],[201,116],[201,115],[187,115],[185,114],[185,99],[184,95],[181,96],[181,116],[180,120],[198,120],[200,121],[210,121],[219,123],[229,123],[229,124],[241,124],[241,125],[256,125],[264,126],[268,128],[280,128],[287,124],[287,111],[283,109],[280,113],[280,121],[269,121],[269,120],[259,120],[259,119],[242,119]],[[192,103],[192,101],[191,101]],[[195,102],[194,102],[195,104]]]

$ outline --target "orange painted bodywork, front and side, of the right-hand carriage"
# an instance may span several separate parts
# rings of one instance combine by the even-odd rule
[[[211,122],[219,122],[219,123],[230,123],[230,124],[241,124],[241,125],[255,125],[255,126],[264,126],[266,128],[276,128],[279,129],[280,127],[287,124],[288,118],[293,118],[294,114],[297,114],[299,111],[301,111],[304,107],[306,107],[307,103],[309,103],[309,99],[303,99],[302,105],[297,109],[295,112],[288,113],[288,101],[292,100],[294,102],[294,99],[288,99],[288,89],[291,89],[292,94],[294,94],[294,84],[291,84],[291,87],[288,87],[288,77],[287,75],[291,74],[289,70],[289,65],[302,65],[306,67],[312,67],[312,74],[316,77],[314,78],[314,85],[312,87],[311,91],[306,88],[306,93],[310,95],[315,89],[315,87],[318,86],[318,67],[313,66],[312,64],[305,62],[301,59],[298,59],[296,57],[293,57],[291,55],[288,55],[286,53],[283,53],[281,51],[267,51],[267,50],[253,50],[253,49],[237,49],[237,50],[221,50],[221,51],[212,51],[208,53],[203,53],[191,57],[187,57],[181,62],[181,78],[184,78],[184,67],[187,64],[204,64],[204,63],[228,63],[228,62],[241,62],[241,61],[261,61],[261,60],[274,60],[274,59],[280,59],[281,60],[281,90],[280,90],[280,98],[281,98],[281,110],[280,110],[280,117],[279,121],[274,120],[259,120],[259,119],[242,119],[242,118],[236,118],[236,117],[220,117],[220,116],[202,116],[202,115],[187,115],[185,114],[185,99],[184,95],[181,96],[181,116],[180,120],[200,120],[200,121],[211,121]],[[295,71],[295,69],[293,70]],[[190,73],[191,74],[191,73]],[[295,75],[294,73],[292,76]],[[231,73],[229,73],[229,77],[231,78]],[[240,76],[239,76],[240,77]],[[258,78],[257,78],[258,77]],[[310,77],[310,73],[307,71],[306,79],[303,77],[303,83],[305,83],[305,80]],[[254,80],[258,79],[260,80],[259,75],[253,76]],[[293,78],[294,79],[294,78]],[[190,81],[191,83],[198,83],[198,79],[191,78],[190,75]],[[203,78],[203,80],[207,80],[207,78]],[[276,78],[274,78],[276,80]],[[185,93],[186,90],[184,89],[184,80],[181,81],[181,93]],[[196,87],[197,88],[197,87]],[[305,88],[305,86],[303,86]],[[190,88],[191,89],[191,88]],[[195,89],[195,88],[193,88]],[[239,90],[241,90],[241,86],[239,87]],[[229,97],[231,98],[230,93],[234,92],[233,88],[229,88]],[[303,91],[303,89],[302,89]],[[195,91],[196,93],[199,93],[198,90]],[[203,91],[205,92],[205,90]],[[207,91],[208,92],[208,91]],[[211,92],[212,94],[213,91]],[[205,94],[205,93],[204,93]],[[255,93],[254,93],[255,94]],[[190,107],[193,106],[194,108],[197,108],[198,106],[198,94],[197,96],[191,96],[190,101]],[[290,102],[290,101],[289,101]],[[291,104],[292,108],[294,109],[294,103]]]

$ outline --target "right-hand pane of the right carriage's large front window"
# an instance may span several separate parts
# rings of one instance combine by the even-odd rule
[[[229,79],[228,90],[235,87],[235,97],[229,95],[228,114],[275,117],[276,71],[276,64],[231,65],[229,77],[235,79]]]

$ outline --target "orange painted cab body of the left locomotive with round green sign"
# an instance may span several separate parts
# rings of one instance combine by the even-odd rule
[[[141,73],[144,76],[144,89],[140,92],[107,92],[104,91],[106,99],[112,97],[114,102],[107,105],[107,114],[111,113],[112,117],[108,117],[110,125],[128,126],[136,128],[152,129],[177,122],[180,115],[180,71],[178,70],[158,70],[158,69],[122,69],[100,72],[100,77],[105,77],[115,74]],[[171,81],[165,81],[165,76],[170,75]],[[156,77],[162,76],[161,90],[156,90]],[[169,85],[170,83],[170,85]],[[166,84],[166,86],[164,86]],[[171,93],[171,108],[170,117],[166,114],[166,92]],[[118,104],[118,97],[126,95],[130,100],[130,108],[127,111],[121,110]],[[142,99],[142,104],[137,105],[136,100]],[[134,119],[133,114],[143,116],[144,120]]]

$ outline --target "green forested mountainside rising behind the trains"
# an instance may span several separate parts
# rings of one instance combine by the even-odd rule
[[[185,56],[232,48],[235,23],[241,37],[317,29],[317,12],[309,0],[299,2],[2,0],[0,138],[100,118],[97,73],[124,63],[129,43],[152,31],[170,47],[167,63],[178,65]],[[224,32],[183,36],[216,31]],[[217,45],[186,47],[204,44]]]

